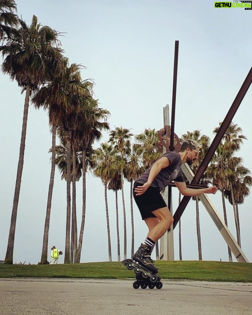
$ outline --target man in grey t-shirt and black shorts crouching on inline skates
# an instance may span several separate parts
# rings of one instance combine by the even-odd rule
[[[184,196],[198,196],[203,193],[213,193],[217,187],[201,189],[187,188],[182,177],[181,164],[191,165],[198,159],[200,145],[194,140],[182,143],[180,152],[163,154],[152,166],[147,169],[134,183],[133,196],[140,210],[142,219],[149,228],[146,240],[140,245],[132,259],[138,261],[153,273],[157,268],[153,265],[151,253],[155,243],[169,229],[173,217],[163,200],[160,192],[173,180]]]

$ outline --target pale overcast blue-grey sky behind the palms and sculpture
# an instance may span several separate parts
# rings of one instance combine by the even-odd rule
[[[62,48],[70,63],[83,64],[83,79],[95,80],[100,107],[111,112],[111,128],[123,126],[139,134],[145,128],[163,128],[163,106],[171,104],[175,40],[179,62],[175,133],[200,129],[213,140],[213,129],[229,110],[251,67],[252,11],[217,9],[214,1],[81,1],[17,0],[18,14],[30,24],[32,15],[42,25],[66,32]],[[22,128],[24,95],[17,83],[0,74],[1,206],[0,260],[9,235]],[[252,170],[252,87],[234,122],[248,140],[237,156]],[[104,134],[103,141],[108,139]],[[99,144],[95,144],[99,146]],[[47,113],[29,109],[26,149],[14,245],[14,262],[37,263],[41,258],[43,229],[50,176],[51,135]],[[123,212],[119,192],[121,258]],[[130,191],[125,183],[127,256],[131,248]],[[223,217],[221,194],[209,195]],[[115,196],[108,192],[112,260],[117,260]],[[252,197],[240,209],[242,249],[252,261]],[[178,190],[173,188],[173,208]],[[232,206],[226,202],[228,225],[235,236]],[[78,233],[82,211],[82,181],[77,183]],[[147,233],[134,203],[135,249]],[[190,201],[182,219],[183,260],[198,260],[195,202]],[[203,260],[228,260],[227,246],[208,213],[200,204]],[[66,229],[66,182],[55,172],[49,247],[64,251]],[[179,259],[178,226],[174,231],[175,259]],[[154,257],[153,257],[154,258]],[[49,259],[49,257],[48,257]],[[107,261],[104,187],[87,175],[87,210],[81,262]],[[64,261],[61,256],[59,262]],[[234,259],[234,261],[236,261]]]

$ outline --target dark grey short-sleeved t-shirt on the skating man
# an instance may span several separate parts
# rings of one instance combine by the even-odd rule
[[[164,153],[162,157],[167,157],[171,163],[168,167],[161,169],[151,184],[152,187],[157,187],[160,191],[162,191],[172,180],[176,181],[177,177],[179,177],[177,181],[183,181],[182,170],[180,167],[182,163],[179,153],[167,152]],[[145,184],[148,180],[151,168],[152,166],[148,168],[136,181],[138,183]]]

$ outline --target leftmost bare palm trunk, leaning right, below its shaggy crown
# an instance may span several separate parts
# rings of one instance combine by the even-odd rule
[[[26,127],[27,127],[27,118],[28,118],[28,109],[29,109],[29,99],[30,99],[30,87],[27,85],[26,97],[25,97],[25,106],[24,106],[24,115],[23,115],[23,125],[22,125],[21,141],[20,141],[20,150],[19,150],[19,161],[18,161],[18,169],[17,169],[17,177],[16,177],[16,185],[15,185],[14,200],[13,200],[12,214],[11,214],[11,220],[10,220],[9,238],[8,238],[7,250],[6,250],[6,255],[5,255],[5,260],[4,260],[5,264],[13,264],[14,238],[15,238],[15,230],[16,230],[17,210],[18,210],[19,193],[20,193],[20,186],[21,186],[21,177],[22,177],[22,171],[23,171],[23,165],[24,165]]]

